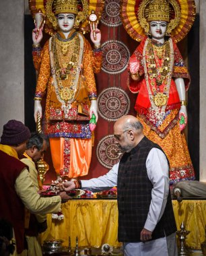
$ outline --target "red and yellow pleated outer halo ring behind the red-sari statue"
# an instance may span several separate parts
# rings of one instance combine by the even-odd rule
[[[141,41],[145,37],[145,31],[141,28],[138,20],[139,5],[143,0],[122,0],[121,3],[121,20],[127,33],[134,40]],[[182,40],[193,26],[195,21],[195,0],[176,0],[180,5],[180,23],[171,36],[174,42]]]

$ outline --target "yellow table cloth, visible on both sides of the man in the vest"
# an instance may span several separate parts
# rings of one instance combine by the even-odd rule
[[[184,221],[186,230],[190,230],[185,245],[192,249],[201,249],[205,241],[206,200],[172,201],[176,225]],[[79,238],[79,247],[100,247],[108,243],[112,247],[121,247],[117,241],[118,209],[116,200],[73,199],[63,203],[61,210],[64,220],[52,220],[48,214],[48,228],[42,233],[41,241],[62,239],[63,246],[75,247],[75,238]]]

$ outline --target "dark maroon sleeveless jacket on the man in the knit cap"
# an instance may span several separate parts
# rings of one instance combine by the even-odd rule
[[[20,160],[0,150],[0,219],[7,220],[13,226],[17,252],[26,249],[24,236],[24,204],[15,192],[15,180],[27,167]]]

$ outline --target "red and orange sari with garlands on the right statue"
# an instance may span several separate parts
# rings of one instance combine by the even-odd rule
[[[143,124],[144,134],[158,143],[170,161],[170,183],[194,180],[195,172],[184,133],[180,131],[180,99],[175,78],[182,77],[186,90],[190,75],[174,41],[164,44],[145,38],[141,41],[129,65],[139,65],[141,79],[129,79],[129,89],[138,93],[135,110]]]

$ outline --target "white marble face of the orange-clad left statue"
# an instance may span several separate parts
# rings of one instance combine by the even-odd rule
[[[57,21],[61,32],[69,32],[75,24],[75,15],[73,13],[60,13],[57,15]]]

